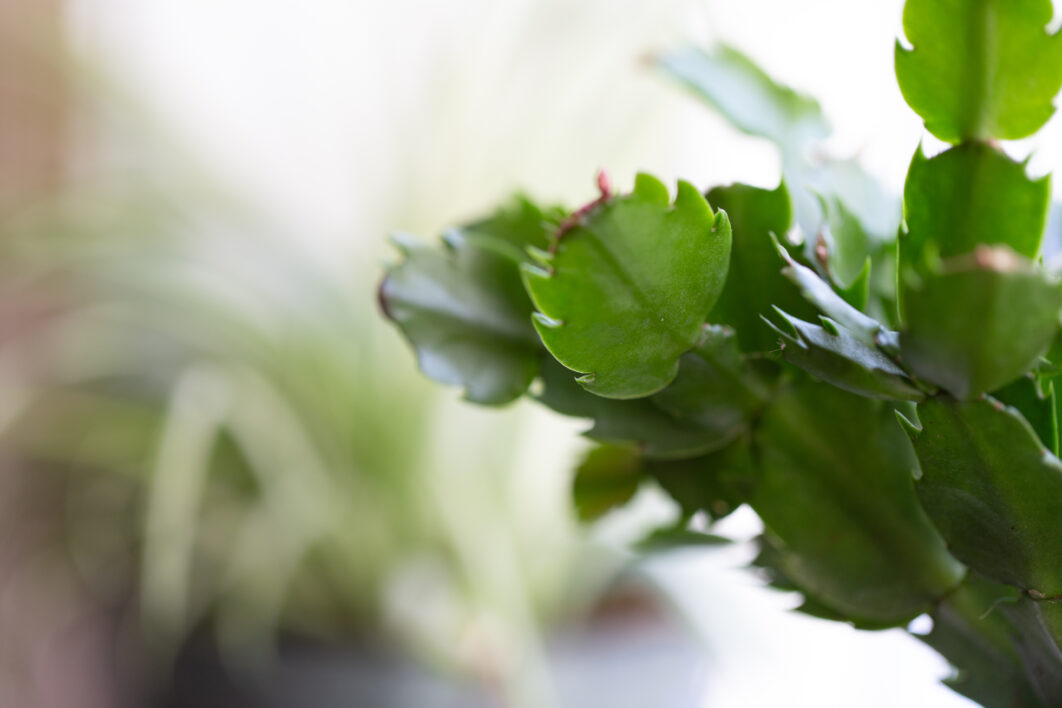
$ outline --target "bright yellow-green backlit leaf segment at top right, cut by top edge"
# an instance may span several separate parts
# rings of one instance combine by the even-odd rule
[[[946,142],[1035,133],[1062,86],[1050,0],[907,0],[896,79],[926,129]]]

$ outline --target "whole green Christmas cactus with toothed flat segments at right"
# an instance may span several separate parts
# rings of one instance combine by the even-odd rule
[[[687,521],[749,504],[756,559],[804,611],[861,627],[930,612],[924,639],[987,706],[1062,705],[1062,286],[1041,259],[1047,178],[999,139],[1052,114],[1049,0],[908,0],[896,73],[926,128],[902,203],[812,155],[818,104],[729,48],[660,57],[783,182],[675,193],[649,175],[568,213],[518,197],[401,238],[387,314],[421,368],[498,404],[587,418],[594,518],[647,480]],[[792,238],[802,237],[803,247]],[[533,392],[533,393],[529,393]]]

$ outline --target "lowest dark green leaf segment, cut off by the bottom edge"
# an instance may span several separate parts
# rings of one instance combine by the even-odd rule
[[[937,606],[932,631],[920,639],[955,668],[955,675],[944,680],[949,688],[986,708],[1047,708],[1058,703],[1044,701],[1042,691],[1048,687],[1041,685],[1047,681],[1035,680],[1058,670],[1048,666],[1030,671],[1055,658],[1043,629],[1023,636],[1015,626],[1015,611],[1035,611],[1028,603],[1015,588],[971,574]],[[1023,655],[1040,658],[1027,666]]]

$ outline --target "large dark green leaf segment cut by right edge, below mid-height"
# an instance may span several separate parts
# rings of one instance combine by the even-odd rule
[[[932,398],[902,419],[922,469],[922,505],[957,558],[1030,594],[1062,594],[1062,463],[1014,409]]]

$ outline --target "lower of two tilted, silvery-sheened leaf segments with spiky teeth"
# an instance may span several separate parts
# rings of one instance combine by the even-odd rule
[[[771,327],[783,338],[782,356],[790,364],[860,396],[895,400],[924,397],[891,359],[832,320],[823,318],[827,329],[782,310],[777,312],[789,325],[789,331],[773,324]]]

